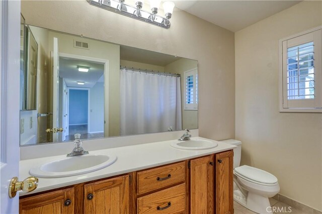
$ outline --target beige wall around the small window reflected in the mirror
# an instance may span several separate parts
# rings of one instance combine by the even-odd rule
[[[180,59],[166,65],[165,72],[176,73],[181,75],[181,106],[182,106],[182,129],[198,128],[198,111],[185,110],[185,71],[198,68],[198,61],[190,59]]]

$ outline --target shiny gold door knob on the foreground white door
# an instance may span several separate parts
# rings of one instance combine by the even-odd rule
[[[9,185],[9,197],[16,196],[17,191],[22,190],[24,192],[31,192],[38,186],[38,178],[31,176],[24,179],[24,181],[18,181],[18,177],[13,177]]]

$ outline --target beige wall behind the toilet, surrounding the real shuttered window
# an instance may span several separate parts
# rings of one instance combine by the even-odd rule
[[[235,33],[236,139],[241,164],[273,173],[280,193],[321,210],[322,114],[280,113],[278,41],[321,25],[304,1]]]

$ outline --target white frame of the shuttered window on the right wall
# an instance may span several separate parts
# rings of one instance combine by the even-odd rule
[[[279,40],[279,111],[280,112],[316,112],[321,113],[322,112],[322,60],[321,60],[321,49],[322,49],[322,37],[314,41],[314,99],[313,100],[288,100],[287,99],[287,82],[285,80],[285,70],[284,70],[284,61],[285,58],[283,58],[283,51],[287,51],[287,47],[284,46],[283,49],[283,42],[285,44],[285,41],[292,40],[298,37],[305,37],[305,35],[318,32],[320,31],[322,34],[322,26],[283,38]],[[317,42],[317,43],[316,43]],[[315,57],[315,46],[319,47],[318,54],[319,55],[319,61],[316,61],[318,57]],[[285,55],[284,55],[285,56]],[[285,61],[286,62],[286,61]],[[316,66],[315,66],[316,65]],[[317,67],[317,69],[315,69]],[[290,101],[290,107],[288,106]],[[315,106],[318,107],[303,107],[304,103],[318,103]],[[294,107],[294,105],[297,105]]]

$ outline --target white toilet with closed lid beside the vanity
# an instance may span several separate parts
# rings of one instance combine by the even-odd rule
[[[229,139],[221,142],[236,145],[233,149],[233,199],[257,213],[272,213],[269,197],[280,191],[277,178],[271,173],[248,165],[239,166],[241,141]]]

